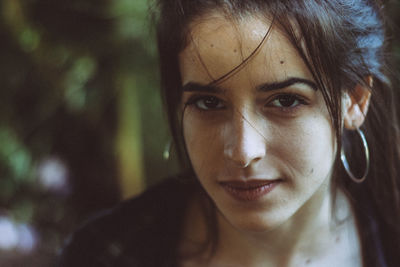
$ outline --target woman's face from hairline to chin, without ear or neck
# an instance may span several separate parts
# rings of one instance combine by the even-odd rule
[[[321,92],[270,23],[218,13],[192,23],[181,52],[183,130],[194,171],[219,214],[246,231],[312,215],[329,195],[336,154]],[[301,215],[302,214],[302,215]]]

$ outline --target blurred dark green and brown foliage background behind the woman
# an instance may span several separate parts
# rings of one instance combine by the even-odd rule
[[[0,0],[0,266],[52,266],[91,214],[177,171],[158,83],[146,0]]]

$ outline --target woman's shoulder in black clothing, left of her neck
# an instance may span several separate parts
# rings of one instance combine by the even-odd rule
[[[158,266],[157,259],[172,260],[192,190],[170,178],[97,215],[69,238],[58,266]]]

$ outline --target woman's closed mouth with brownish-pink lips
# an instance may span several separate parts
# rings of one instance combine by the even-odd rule
[[[239,201],[256,201],[270,193],[282,179],[220,182],[222,188]]]

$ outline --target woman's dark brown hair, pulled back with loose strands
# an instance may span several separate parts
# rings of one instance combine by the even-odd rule
[[[321,90],[340,151],[360,151],[356,135],[342,129],[341,99],[356,84],[365,87],[373,77],[371,104],[362,128],[370,149],[370,171],[365,182],[353,183],[336,158],[333,190],[342,189],[356,213],[365,266],[377,266],[371,243],[373,221],[387,263],[400,266],[400,165],[397,95],[388,71],[388,46],[383,1],[372,0],[158,0],[157,40],[161,89],[172,136],[183,167],[190,162],[183,142],[180,103],[182,84],[178,54],[185,48],[190,23],[216,9],[230,17],[246,14],[273,18],[287,35]],[[300,32],[300,34],[298,34]],[[229,73],[227,74],[229,76]],[[339,153],[338,153],[339,154]],[[364,155],[349,153],[352,166],[364,164]],[[362,169],[363,167],[361,167]]]

